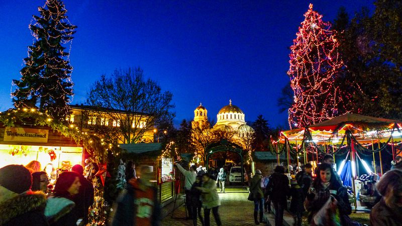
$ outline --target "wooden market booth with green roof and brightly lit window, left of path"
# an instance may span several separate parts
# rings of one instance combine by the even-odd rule
[[[122,152],[123,159],[132,159],[136,167],[140,165],[153,166],[154,179],[152,182],[157,188],[158,201],[161,206],[165,206],[174,201],[175,192],[175,172],[173,168],[173,158],[170,155],[171,143],[139,143],[121,144],[120,148],[126,150]]]

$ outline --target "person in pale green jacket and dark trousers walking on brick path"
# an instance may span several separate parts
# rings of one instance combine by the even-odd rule
[[[217,183],[210,178],[208,173],[203,174],[203,186],[195,187],[202,192],[202,201],[204,207],[204,225],[210,226],[210,213],[214,214],[215,221],[218,226],[222,225],[221,217],[219,216],[218,208],[221,205],[221,200],[217,192]]]

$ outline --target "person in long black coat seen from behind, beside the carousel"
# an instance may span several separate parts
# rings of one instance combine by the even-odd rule
[[[283,166],[276,166],[268,182],[268,189],[271,190],[269,196],[275,210],[275,226],[282,226],[283,210],[287,205],[286,196],[289,194],[289,179],[284,173]]]

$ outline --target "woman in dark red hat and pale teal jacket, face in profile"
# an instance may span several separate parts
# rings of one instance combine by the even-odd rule
[[[75,172],[63,172],[59,175],[54,188],[54,196],[47,200],[45,216],[50,225],[75,226],[78,220],[75,212],[74,195],[78,194],[79,175]]]

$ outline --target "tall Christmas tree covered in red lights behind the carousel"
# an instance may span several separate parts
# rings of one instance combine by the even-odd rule
[[[344,66],[338,53],[336,32],[322,15],[313,11],[313,5],[304,15],[290,47],[290,86],[294,103],[289,108],[290,128],[305,127],[331,119],[343,104],[339,87],[334,84]]]

